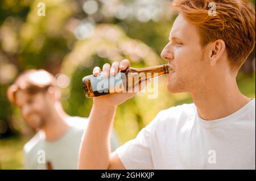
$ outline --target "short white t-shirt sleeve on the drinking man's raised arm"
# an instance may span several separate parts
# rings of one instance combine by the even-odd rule
[[[155,120],[138,133],[134,140],[126,142],[115,152],[127,170],[154,169],[151,157],[151,132]]]

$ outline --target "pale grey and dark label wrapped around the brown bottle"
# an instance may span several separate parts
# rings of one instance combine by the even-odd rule
[[[115,76],[104,77],[103,74],[91,77],[90,83],[95,96],[121,92],[126,88],[125,73],[119,71]]]

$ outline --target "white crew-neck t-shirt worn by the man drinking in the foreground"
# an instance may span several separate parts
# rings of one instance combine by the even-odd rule
[[[255,99],[210,121],[195,104],[160,111],[116,151],[126,169],[255,169]]]

